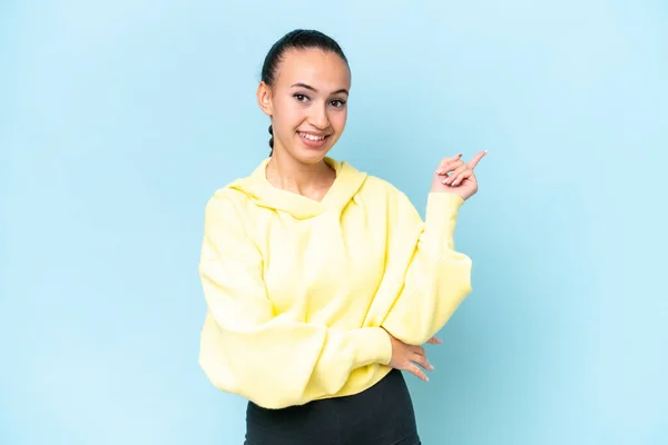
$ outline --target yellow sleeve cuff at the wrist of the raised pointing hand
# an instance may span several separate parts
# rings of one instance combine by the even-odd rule
[[[454,249],[454,227],[464,200],[444,191],[432,191],[426,199],[424,243],[439,249]]]

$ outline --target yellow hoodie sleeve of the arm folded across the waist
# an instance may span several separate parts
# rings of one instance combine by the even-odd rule
[[[206,206],[199,275],[207,303],[199,364],[219,389],[279,408],[335,394],[353,369],[391,359],[381,327],[348,330],[276,315],[262,255],[224,194]]]

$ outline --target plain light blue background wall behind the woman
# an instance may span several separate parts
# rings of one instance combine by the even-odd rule
[[[297,27],[351,60],[335,158],[422,211],[490,150],[474,290],[406,375],[423,442],[668,443],[658,0],[3,0],[0,443],[242,443],[197,365],[204,205],[267,155],[261,63]]]

